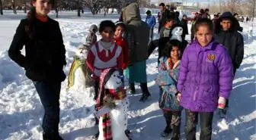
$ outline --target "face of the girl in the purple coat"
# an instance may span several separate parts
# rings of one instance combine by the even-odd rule
[[[208,45],[213,39],[213,32],[206,25],[199,26],[196,32],[197,40],[202,47]]]

